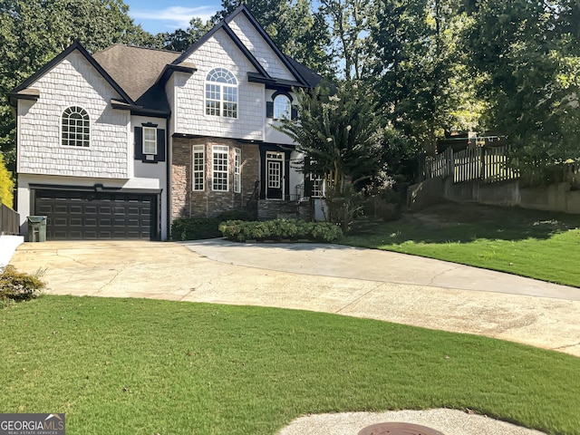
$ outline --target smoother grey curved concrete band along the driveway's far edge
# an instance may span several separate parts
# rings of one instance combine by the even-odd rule
[[[315,243],[235,243],[222,238],[181,243],[222,263],[292,274],[580,301],[580,288],[378,249]]]

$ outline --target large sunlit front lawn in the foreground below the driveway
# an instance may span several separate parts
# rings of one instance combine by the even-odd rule
[[[65,412],[70,435],[275,434],[308,412],[439,407],[580,434],[580,359],[486,337],[72,296],[0,310],[0,332],[0,410]]]

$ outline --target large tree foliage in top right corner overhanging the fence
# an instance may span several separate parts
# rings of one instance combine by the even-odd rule
[[[485,72],[489,118],[522,169],[580,158],[580,4],[573,0],[469,3],[472,66]]]

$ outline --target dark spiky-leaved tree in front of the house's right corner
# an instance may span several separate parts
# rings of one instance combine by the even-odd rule
[[[304,170],[323,177],[331,221],[341,212],[333,200],[345,198],[347,186],[370,182],[382,169],[381,116],[360,84],[300,91],[298,119],[282,121],[278,129],[304,153]]]

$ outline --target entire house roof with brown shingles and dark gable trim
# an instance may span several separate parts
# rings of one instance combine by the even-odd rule
[[[245,14],[247,16],[247,19],[256,28],[258,34],[264,38],[275,55],[284,63],[288,71],[295,76],[295,82],[273,78],[266,72],[264,66],[257,61],[256,57],[228,25],[237,14]],[[81,43],[75,42],[66,48],[63,53],[55,56],[52,61],[46,63],[38,72],[15,87],[12,92],[8,93],[8,96],[11,98],[11,101],[12,99],[37,99],[38,91],[28,88],[45,73],[53,69],[55,65],[61,63],[70,53],[78,50],[92,64],[95,70],[102,75],[103,79],[121,96],[121,100],[112,102],[116,108],[131,110],[131,112],[135,113],[166,116],[170,113],[170,106],[164,84],[169,75],[173,72],[194,73],[196,71],[195,65],[186,63],[185,61],[191,53],[198,50],[203,43],[206,43],[219,30],[223,30],[227,34],[239,50],[244,53],[248,61],[256,68],[256,73],[248,73],[248,80],[250,82],[265,83],[268,87],[276,88],[281,86],[290,88],[314,87],[322,81],[320,75],[282,53],[266,34],[262,26],[257,23],[256,18],[250,13],[247,6],[241,5],[236,11],[228,15],[226,19],[216,24],[184,53],[114,44],[102,52],[91,55]]]

